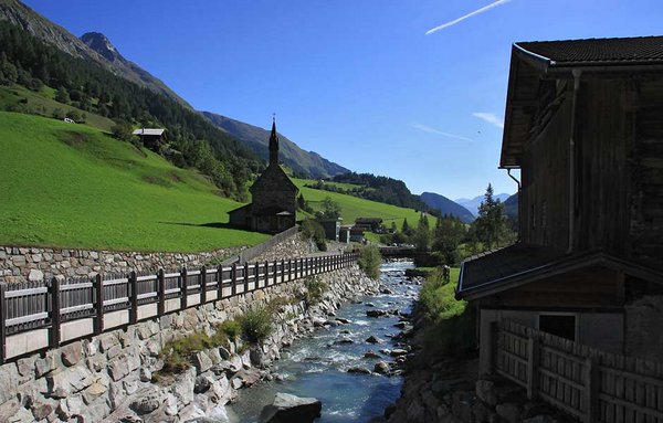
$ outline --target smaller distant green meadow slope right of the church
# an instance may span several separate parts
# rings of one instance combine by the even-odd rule
[[[299,192],[316,211],[320,209],[320,202],[326,197],[329,197],[332,200],[336,201],[341,208],[341,218],[344,224],[351,224],[357,218],[382,218],[385,221],[385,226],[390,228],[391,222],[396,222],[398,229],[400,230],[404,219],[408,219],[408,224],[414,228],[417,226],[417,222],[419,222],[420,213],[413,209],[404,209],[397,205],[379,203],[338,192],[307,188],[305,187],[306,184],[315,182],[309,179],[293,178],[293,182],[295,182],[297,188],[299,188]],[[429,216],[429,224],[434,226],[435,218]]]

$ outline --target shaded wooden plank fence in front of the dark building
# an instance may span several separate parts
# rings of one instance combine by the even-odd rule
[[[663,423],[663,364],[596,350],[504,320],[494,369],[581,422]]]

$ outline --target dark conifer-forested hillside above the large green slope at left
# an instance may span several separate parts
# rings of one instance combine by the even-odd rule
[[[34,92],[53,88],[55,101],[117,121],[119,137],[130,138],[133,126],[167,128],[165,156],[177,166],[199,168],[228,197],[245,199],[252,173],[262,167],[253,152],[201,114],[0,21],[0,85],[12,84]],[[12,109],[42,114],[27,103]]]

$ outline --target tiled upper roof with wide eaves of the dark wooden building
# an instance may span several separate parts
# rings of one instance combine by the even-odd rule
[[[506,96],[501,168],[519,168],[539,107],[541,80],[585,73],[663,71],[663,36],[517,42]]]

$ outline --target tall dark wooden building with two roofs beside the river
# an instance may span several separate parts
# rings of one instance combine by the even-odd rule
[[[499,167],[520,241],[463,263],[456,296],[610,352],[663,361],[663,36],[519,42]]]

